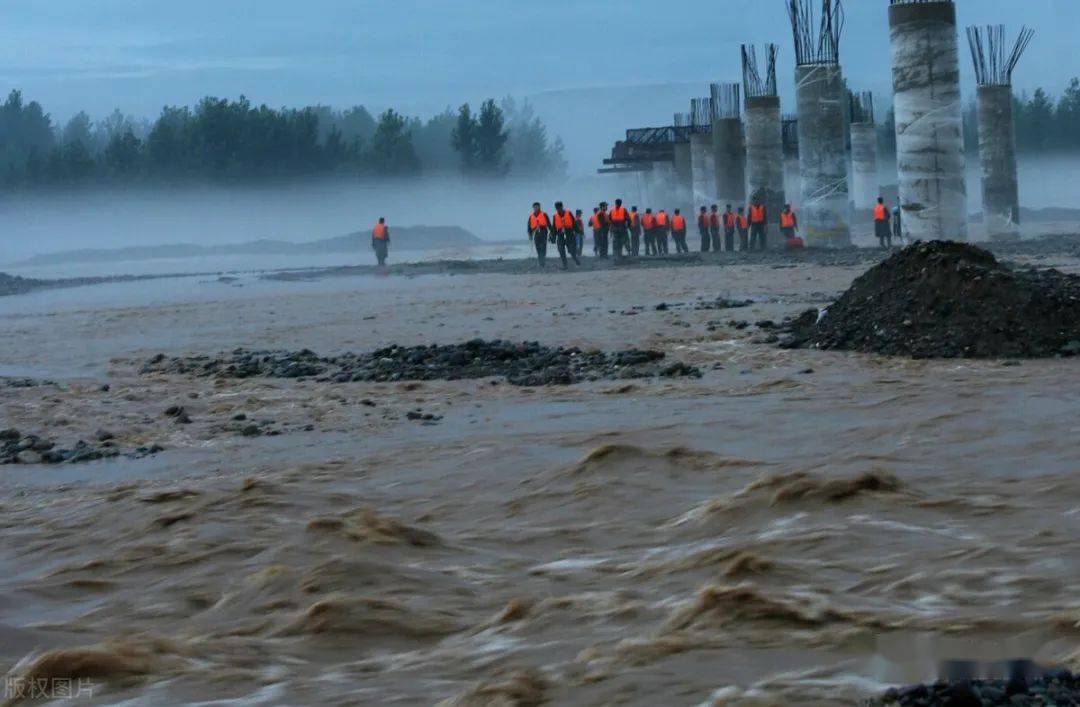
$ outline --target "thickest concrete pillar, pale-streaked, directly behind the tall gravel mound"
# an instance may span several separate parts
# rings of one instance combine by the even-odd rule
[[[953,0],[890,0],[889,30],[903,235],[966,241],[956,5]]]

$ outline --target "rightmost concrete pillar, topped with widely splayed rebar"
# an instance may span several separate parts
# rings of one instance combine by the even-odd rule
[[[1020,180],[1012,110],[1012,72],[1034,30],[1021,29],[1007,56],[1004,25],[968,28],[978,82],[978,158],[983,167],[983,225],[991,241],[1020,239]]]

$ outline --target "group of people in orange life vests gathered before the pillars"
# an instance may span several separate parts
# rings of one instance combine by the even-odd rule
[[[784,206],[779,222],[786,246],[801,247],[797,235],[798,218],[791,204]],[[698,214],[701,251],[734,251],[737,235],[738,250],[765,250],[768,225],[768,209],[758,199],[754,199],[748,208],[740,206],[738,210],[731,204],[724,212],[720,212],[718,204],[702,206]],[[588,227],[593,232],[593,255],[602,259],[608,258],[609,253],[617,260],[638,257],[643,247],[646,256],[666,255],[671,253],[672,244],[676,254],[690,251],[687,243],[688,221],[678,208],[670,215],[663,208],[656,213],[646,208],[642,213],[637,206],[626,208],[621,199],[615,200],[615,206],[611,207],[607,202],[600,202],[593,208]],[[564,270],[569,267],[571,259],[581,264],[585,221],[580,208],[571,213],[563,202],[555,202],[555,210],[549,215],[540,202],[536,202],[529,213],[526,232],[536,247],[540,267],[546,263],[548,246],[551,244],[558,248]]]

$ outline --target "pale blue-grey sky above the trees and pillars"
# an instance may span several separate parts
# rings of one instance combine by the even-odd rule
[[[879,95],[889,86],[887,5],[848,0],[841,45],[852,87]],[[958,5],[961,24],[1038,30],[1018,90],[1041,84],[1056,93],[1080,74],[1077,0]],[[670,105],[671,92],[650,100],[639,87],[671,83],[687,96],[705,95],[707,82],[738,79],[738,47],[746,41],[780,43],[782,92],[791,93],[782,0],[0,0],[0,89],[22,89],[58,119],[118,107],[152,117],[206,94],[421,114],[487,96],[541,94],[541,113],[556,132],[602,123],[589,126],[592,140],[600,128],[617,137],[635,122],[670,123],[687,108]],[[961,49],[970,90],[967,44]],[[633,105],[599,91],[610,86],[638,87],[626,94]],[[542,95],[581,89],[597,91]],[[608,110],[597,111],[593,98]],[[585,145],[566,137],[571,147]]]

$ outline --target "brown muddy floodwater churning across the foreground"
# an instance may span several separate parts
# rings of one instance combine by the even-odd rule
[[[1080,667],[1080,364],[769,343],[865,267],[4,298],[0,429],[164,451],[0,466],[0,672],[89,704],[832,705],[948,661]],[[475,338],[703,376],[141,372]]]

